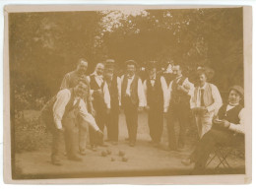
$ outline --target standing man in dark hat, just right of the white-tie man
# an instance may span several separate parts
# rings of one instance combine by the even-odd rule
[[[148,63],[149,77],[144,81],[148,125],[154,146],[159,146],[163,129],[163,105],[167,100],[167,85],[164,77],[157,74],[157,63]]]

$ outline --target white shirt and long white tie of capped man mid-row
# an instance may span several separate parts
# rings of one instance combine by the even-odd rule
[[[127,89],[126,89],[126,95],[131,96],[131,84],[134,80],[134,76],[129,79],[128,78],[128,83],[127,83]],[[123,79],[124,79],[124,75],[121,77],[121,85],[123,84]],[[146,98],[145,98],[145,94],[144,94],[144,88],[143,88],[143,84],[142,84],[142,80],[139,78],[138,80],[138,96],[139,96],[139,106],[140,107],[144,107],[146,106]]]

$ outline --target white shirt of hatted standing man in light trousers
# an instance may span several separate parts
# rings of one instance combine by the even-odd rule
[[[201,90],[205,90],[206,86],[208,83],[205,83],[205,85],[202,88],[199,88],[197,91],[197,100],[194,100],[193,96],[194,94],[191,95],[191,99],[190,99],[190,107],[191,108],[195,108],[195,107],[200,107],[201,106]],[[210,85],[211,89],[212,89],[212,96],[214,99],[213,104],[207,106],[207,111],[211,112],[211,111],[215,111],[215,114],[218,113],[218,110],[220,109],[220,107],[223,105],[223,99],[222,96],[218,90],[218,88],[214,85]]]

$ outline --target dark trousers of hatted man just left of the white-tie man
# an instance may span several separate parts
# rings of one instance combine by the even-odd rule
[[[110,141],[118,141],[118,126],[119,126],[119,110],[113,108],[106,115],[105,124],[107,129],[107,138]]]

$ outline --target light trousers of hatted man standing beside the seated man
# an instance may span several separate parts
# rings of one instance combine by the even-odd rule
[[[214,111],[206,112],[204,114],[195,114],[195,120],[200,139],[212,128],[214,114]]]

